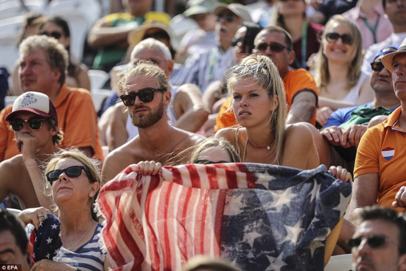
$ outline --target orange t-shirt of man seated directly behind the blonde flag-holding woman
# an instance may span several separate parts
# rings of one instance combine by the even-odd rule
[[[285,77],[283,77],[283,85],[286,91],[286,103],[288,112],[290,107],[292,106],[292,102],[295,99],[295,96],[302,91],[310,91],[314,93],[314,95],[316,96],[317,104],[318,90],[316,87],[316,83],[314,82],[312,74],[306,69],[298,68],[295,70],[289,70],[286,73]],[[228,110],[231,102],[232,97],[229,97],[227,101],[225,101],[221,105],[219,115],[216,119],[215,133],[221,128],[231,127],[238,124],[233,111]],[[316,124],[316,109],[314,109],[312,118],[309,123],[311,123],[312,125]]]

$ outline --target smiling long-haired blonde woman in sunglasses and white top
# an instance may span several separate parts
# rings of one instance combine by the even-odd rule
[[[319,91],[317,123],[322,127],[333,111],[372,102],[368,75],[361,72],[362,36],[358,26],[341,16],[326,24],[315,64]]]

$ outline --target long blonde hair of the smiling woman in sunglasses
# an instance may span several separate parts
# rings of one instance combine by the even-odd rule
[[[362,35],[358,26],[351,20],[345,18],[342,15],[334,15],[326,23],[323,35],[321,36],[320,49],[317,53],[317,60],[315,64],[315,81],[317,88],[322,92],[327,83],[330,81],[330,73],[328,70],[327,57],[323,52],[324,45],[328,42],[326,39],[326,34],[329,33],[330,29],[333,27],[334,23],[339,23],[344,25],[348,30],[352,38],[352,46],[354,46],[353,59],[348,66],[347,82],[349,87],[353,87],[357,84],[358,79],[361,75],[361,64],[362,64]]]

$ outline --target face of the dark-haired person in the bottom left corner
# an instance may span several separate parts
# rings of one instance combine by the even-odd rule
[[[23,254],[20,247],[16,244],[15,237],[10,231],[0,232],[0,264],[18,264],[21,265],[23,271],[29,271],[28,257],[28,248],[25,254]]]

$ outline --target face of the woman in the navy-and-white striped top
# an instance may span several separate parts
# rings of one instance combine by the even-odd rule
[[[66,169],[72,166],[84,166],[79,161],[73,158],[63,158],[55,166],[55,169]],[[59,206],[63,202],[71,201],[90,201],[89,192],[91,186],[95,183],[89,181],[89,177],[82,170],[78,177],[70,178],[66,172],[62,172],[57,181],[52,184],[52,197],[55,203]]]

